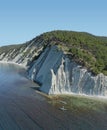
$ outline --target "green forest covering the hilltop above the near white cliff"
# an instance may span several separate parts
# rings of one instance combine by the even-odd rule
[[[59,46],[79,64],[94,74],[107,75],[107,37],[84,32],[52,31],[40,36],[46,43]]]

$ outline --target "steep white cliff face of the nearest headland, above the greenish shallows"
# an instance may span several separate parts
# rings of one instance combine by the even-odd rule
[[[48,94],[107,95],[107,76],[93,76],[56,46],[45,49],[30,68],[29,76]]]

